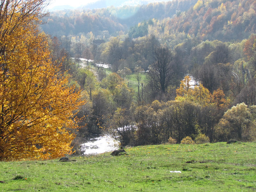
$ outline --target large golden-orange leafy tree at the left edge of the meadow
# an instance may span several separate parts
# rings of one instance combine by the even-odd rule
[[[70,154],[82,102],[38,30],[45,0],[1,0],[0,161]]]

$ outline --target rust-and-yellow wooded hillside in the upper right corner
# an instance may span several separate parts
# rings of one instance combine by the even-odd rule
[[[170,34],[184,32],[203,41],[241,41],[256,32],[255,11],[255,0],[199,0],[166,24]]]

